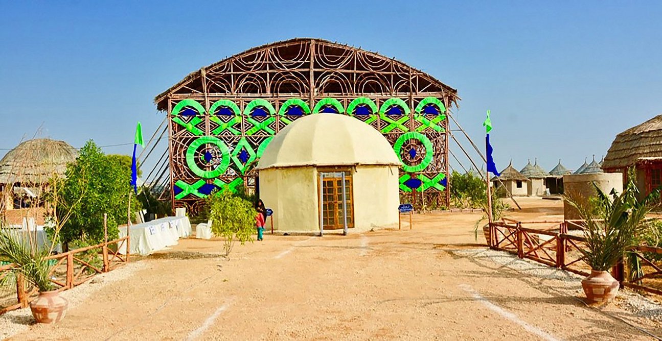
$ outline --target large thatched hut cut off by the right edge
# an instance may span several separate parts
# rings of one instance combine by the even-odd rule
[[[602,162],[604,172],[620,172],[626,182],[628,169],[636,169],[642,196],[662,186],[662,115],[616,135]]]

